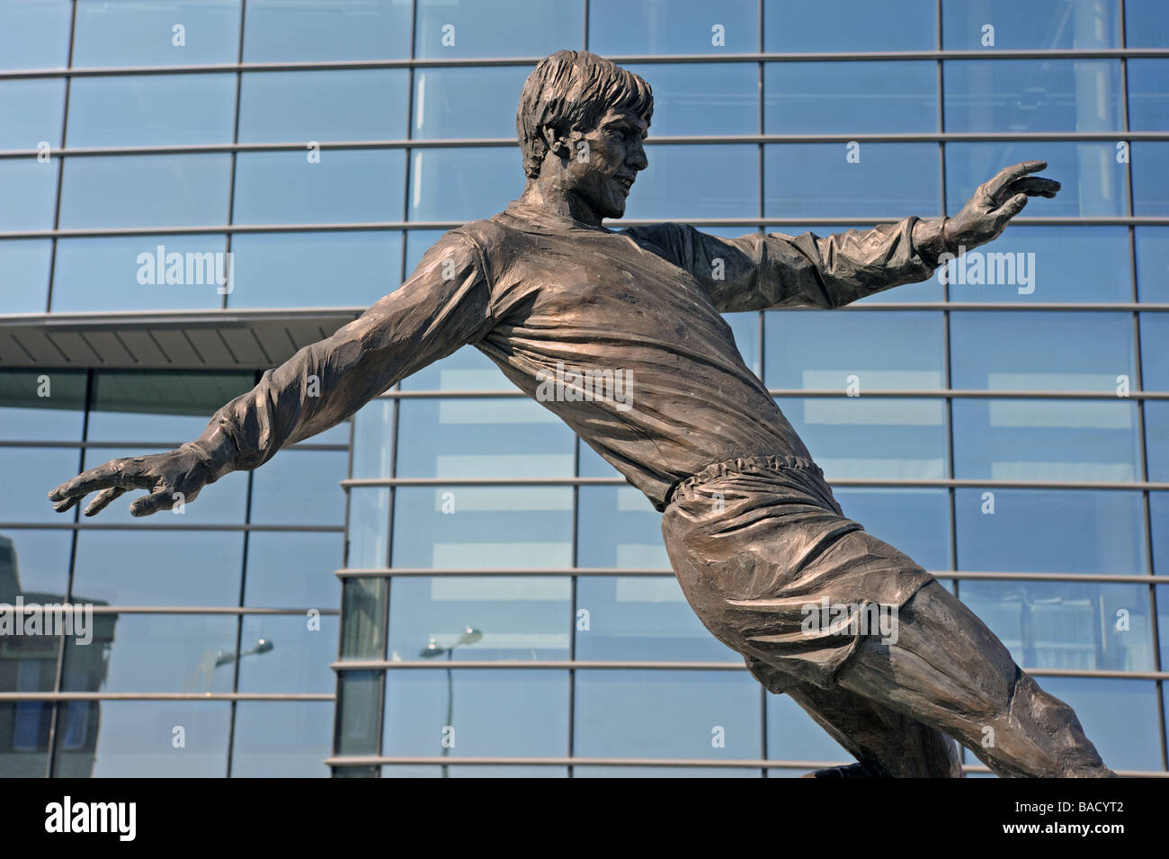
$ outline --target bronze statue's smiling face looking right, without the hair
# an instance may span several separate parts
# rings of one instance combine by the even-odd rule
[[[625,198],[649,161],[642,143],[649,124],[632,111],[610,110],[597,126],[570,136],[566,193],[580,196],[601,217],[625,214]]]

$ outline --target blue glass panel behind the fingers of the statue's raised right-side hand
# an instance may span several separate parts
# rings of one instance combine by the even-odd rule
[[[1135,147],[1133,159],[1136,159]],[[1031,160],[1046,161],[1042,175],[1058,180],[1063,188],[1053,199],[1031,199],[1024,210],[1028,217],[1127,214],[1127,165],[1118,161],[1114,144],[1051,140],[946,144],[948,208],[956,213],[975,188],[1003,167]]]

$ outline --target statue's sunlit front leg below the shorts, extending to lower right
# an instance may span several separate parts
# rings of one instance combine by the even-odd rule
[[[956,737],[1001,776],[1114,775],[1072,708],[1040,690],[938,582],[901,608],[895,644],[864,639],[836,681]]]

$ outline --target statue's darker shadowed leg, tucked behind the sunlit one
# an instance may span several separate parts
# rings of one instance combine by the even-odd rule
[[[750,657],[747,667],[769,691],[790,695],[857,758],[859,767],[842,770],[837,777],[962,777],[957,746],[940,730],[844,688],[791,683],[770,665]]]

